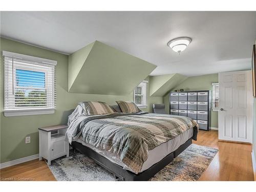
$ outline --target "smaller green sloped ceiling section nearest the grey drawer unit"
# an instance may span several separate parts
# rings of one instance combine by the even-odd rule
[[[150,77],[150,96],[163,97],[167,92],[177,87],[187,76],[179,73],[157,75]]]

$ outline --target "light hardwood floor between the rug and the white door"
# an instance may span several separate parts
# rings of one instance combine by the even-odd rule
[[[251,144],[218,141],[214,130],[200,131],[193,143],[219,149],[200,181],[254,181]]]

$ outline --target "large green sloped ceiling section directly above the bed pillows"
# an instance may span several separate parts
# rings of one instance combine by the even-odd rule
[[[127,95],[156,67],[94,41],[69,55],[69,92]]]

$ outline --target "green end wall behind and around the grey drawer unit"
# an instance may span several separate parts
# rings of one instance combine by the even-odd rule
[[[174,88],[174,90],[184,89],[184,91],[196,91],[196,90],[211,90],[212,91],[212,82],[219,82],[218,74],[209,74],[209,75],[201,75],[188,77],[184,80],[178,87]],[[164,102],[166,106],[166,112],[169,111],[169,94],[165,95]],[[211,111],[211,126],[218,127],[218,112]]]

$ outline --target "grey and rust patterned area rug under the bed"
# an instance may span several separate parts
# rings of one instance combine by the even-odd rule
[[[217,152],[215,148],[191,144],[151,181],[198,181]],[[108,170],[79,153],[53,160],[49,168],[58,181],[115,181]]]

